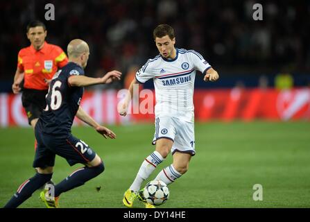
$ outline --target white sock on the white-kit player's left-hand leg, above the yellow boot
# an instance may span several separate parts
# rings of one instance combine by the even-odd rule
[[[146,157],[144,162],[142,162],[137,176],[129,189],[133,191],[139,191],[142,182],[146,180],[150,176],[150,174],[153,173],[157,165],[160,164],[163,160],[164,158],[157,151],[150,153],[150,155]]]

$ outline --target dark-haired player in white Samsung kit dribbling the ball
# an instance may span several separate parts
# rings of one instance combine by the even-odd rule
[[[175,48],[173,28],[161,24],[153,31],[160,55],[150,59],[137,71],[125,101],[118,106],[119,114],[126,116],[132,99],[133,86],[153,78],[155,86],[155,151],[142,162],[132,185],[125,192],[123,204],[132,207],[136,198],[143,201],[139,191],[141,183],[163,162],[171,151],[173,164],[162,169],[155,180],[166,185],[180,178],[189,168],[191,156],[195,155],[193,87],[196,70],[201,71],[205,81],[218,80],[218,73],[199,53]],[[154,207],[146,203],[146,207]]]

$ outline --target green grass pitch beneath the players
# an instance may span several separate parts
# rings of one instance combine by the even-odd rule
[[[72,133],[103,158],[105,171],[62,194],[60,207],[123,207],[123,192],[155,148],[150,144],[154,126],[110,128],[117,139],[104,139],[89,127],[73,128]],[[196,155],[189,171],[169,186],[170,198],[160,207],[310,207],[309,122],[196,123],[195,131]],[[34,174],[34,136],[31,128],[1,128],[0,135],[2,207]],[[169,155],[150,179],[171,161]],[[78,167],[56,157],[54,182]],[[263,187],[262,201],[252,199],[255,184]],[[38,196],[36,191],[20,207],[44,207]]]

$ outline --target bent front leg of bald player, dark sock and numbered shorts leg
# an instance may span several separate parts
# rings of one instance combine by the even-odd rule
[[[55,185],[55,197],[84,185],[85,182],[95,178],[105,169],[101,158],[85,142],[72,135],[66,140],[65,144],[57,146],[56,153],[64,157],[71,166],[81,163],[85,164],[85,167],[76,169],[67,178]]]

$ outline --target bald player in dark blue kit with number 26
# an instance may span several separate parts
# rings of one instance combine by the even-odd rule
[[[102,78],[84,76],[89,47],[83,40],[72,40],[67,47],[67,53],[69,63],[53,76],[49,93],[46,94],[46,108],[35,126],[37,148],[33,167],[37,169],[37,173],[19,186],[17,192],[4,207],[18,207],[34,191],[51,180],[55,155],[64,157],[70,166],[81,163],[85,167],[77,169],[55,187],[51,185],[49,190],[45,189],[40,193],[40,198],[49,208],[59,207],[60,194],[84,185],[85,182],[95,178],[105,169],[101,157],[85,142],[71,135],[71,126],[76,116],[89,126],[94,127],[103,137],[116,138],[112,130],[100,126],[80,108],[80,100],[83,96],[84,86],[120,80],[121,73],[114,70],[107,72]]]

